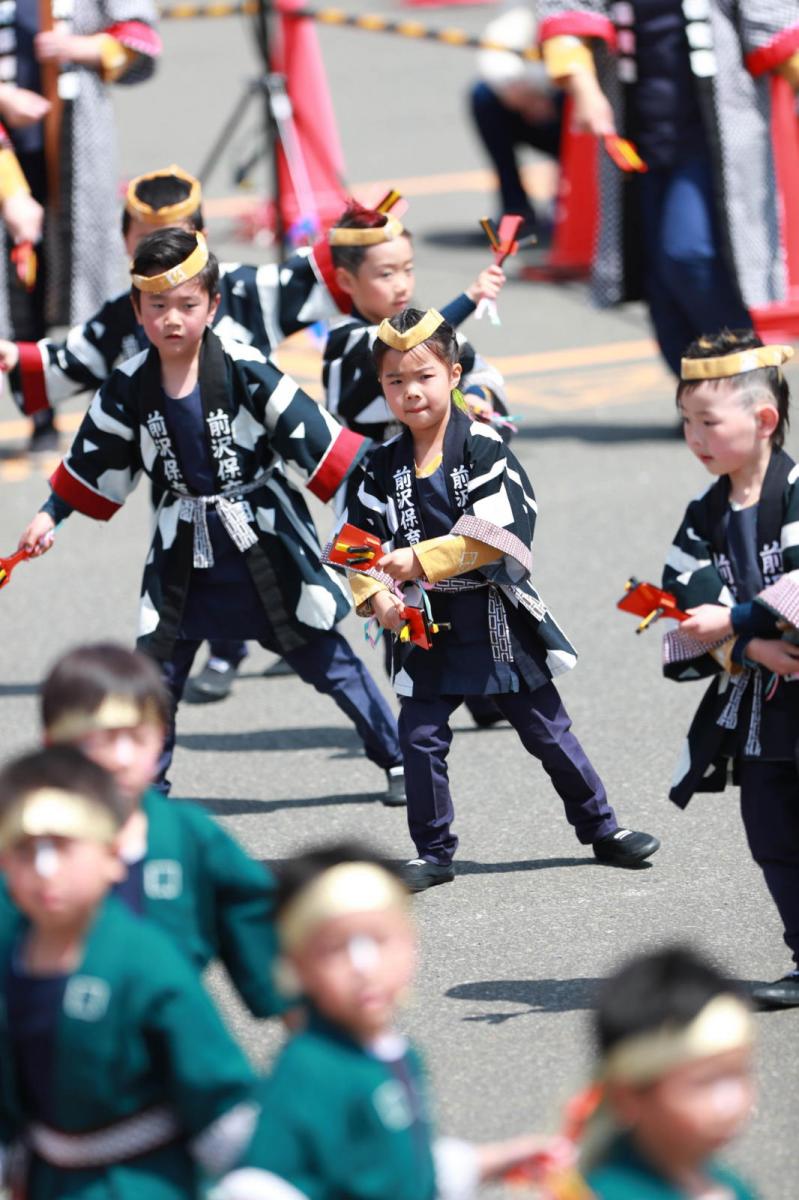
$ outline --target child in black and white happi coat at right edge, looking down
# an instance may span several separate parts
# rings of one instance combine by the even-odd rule
[[[732,764],[749,846],[795,965],[753,995],[780,1006],[799,1004],[799,648],[751,601],[799,568],[799,469],[782,450],[789,395],[780,366],[792,353],[727,330],[689,347],[677,402],[689,449],[716,481],[689,505],[663,570],[663,587],[692,612],[681,632],[708,646],[666,674],[714,676],[669,794],[685,808],[695,792],[723,791]]]

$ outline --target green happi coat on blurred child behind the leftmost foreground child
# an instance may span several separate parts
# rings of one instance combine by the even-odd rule
[[[275,880],[204,809],[155,790],[142,799],[148,817],[144,912],[198,971],[224,965],[254,1016],[286,1004],[272,985],[277,935]]]

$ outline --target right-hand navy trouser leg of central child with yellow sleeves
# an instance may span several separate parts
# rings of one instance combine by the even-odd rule
[[[615,833],[619,822],[608,804],[605,785],[571,732],[571,718],[555,685],[547,683],[534,692],[495,698],[524,749],[540,760],[552,780],[577,840],[590,845]]]

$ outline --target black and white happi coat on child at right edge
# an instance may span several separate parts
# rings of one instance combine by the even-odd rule
[[[663,569],[663,587],[685,611],[738,602],[727,553],[729,479],[722,475],[689,504]],[[757,556],[763,586],[799,569],[799,466],[782,450],[771,455],[757,511]],[[689,640],[690,642],[691,640]],[[768,672],[731,673],[709,650],[667,635],[663,673],[678,682],[713,677],[689,730],[669,797],[685,808],[695,792],[723,791],[739,757],[793,760],[799,738],[799,683],[782,679],[767,700]],[[681,649],[681,647],[685,649]]]

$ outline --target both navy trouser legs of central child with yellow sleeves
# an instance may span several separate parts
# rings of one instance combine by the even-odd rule
[[[462,696],[400,697],[408,828],[419,857],[431,863],[450,863],[458,845],[451,830],[455,809],[446,756],[452,743],[449,720],[462,700]],[[540,760],[578,841],[589,845],[614,833],[619,824],[602,780],[571,733],[571,719],[554,684],[492,700],[518,733],[524,749]]]

